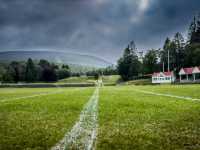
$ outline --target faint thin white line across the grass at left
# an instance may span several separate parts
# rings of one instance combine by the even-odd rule
[[[51,94],[58,94],[62,93],[63,91],[58,91],[58,92],[49,92],[49,93],[41,93],[41,94],[34,94],[30,96],[23,96],[23,97],[17,97],[17,98],[10,98],[10,99],[2,99],[0,102],[7,102],[7,101],[12,101],[12,100],[21,100],[21,99],[27,99],[27,98],[33,98],[33,97],[40,97],[40,96],[46,96],[46,95],[51,95]]]

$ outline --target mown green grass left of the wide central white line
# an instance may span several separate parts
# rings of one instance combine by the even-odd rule
[[[1,98],[52,92],[49,89],[3,89]],[[44,150],[71,129],[93,88],[62,88],[63,93],[0,102],[0,149]],[[23,96],[24,96],[23,95]]]

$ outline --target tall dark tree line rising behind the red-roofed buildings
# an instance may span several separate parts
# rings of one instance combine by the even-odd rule
[[[177,32],[173,38],[166,38],[162,49],[148,50],[142,60],[138,57],[134,42],[131,42],[118,60],[118,74],[123,80],[131,80],[162,71],[163,66],[167,71],[168,53],[169,69],[177,76],[182,67],[200,66],[200,15],[194,16],[187,40]]]

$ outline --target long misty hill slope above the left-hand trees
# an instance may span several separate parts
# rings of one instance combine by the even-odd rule
[[[46,59],[54,63],[73,64],[89,67],[104,68],[112,63],[90,55],[75,54],[63,51],[4,51],[0,52],[0,62],[26,61],[28,58],[33,60]]]

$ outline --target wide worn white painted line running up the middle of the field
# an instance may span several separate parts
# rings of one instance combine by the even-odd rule
[[[94,149],[98,128],[98,99],[99,88],[97,87],[71,131],[51,150]]]

